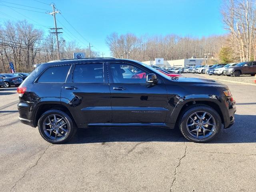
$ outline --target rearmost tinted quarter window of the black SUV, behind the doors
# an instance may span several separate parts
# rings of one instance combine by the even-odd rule
[[[40,76],[39,83],[64,83],[70,65],[50,67]]]

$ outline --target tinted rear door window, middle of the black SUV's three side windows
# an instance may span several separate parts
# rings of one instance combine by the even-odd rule
[[[104,83],[103,64],[80,64],[73,71],[75,83]]]

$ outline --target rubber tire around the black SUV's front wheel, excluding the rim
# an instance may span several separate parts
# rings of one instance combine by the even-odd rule
[[[199,112],[199,111],[208,112],[209,114],[211,114],[214,117],[214,119],[216,121],[216,128],[215,128],[214,132],[207,138],[194,138],[193,136],[190,135],[190,133],[188,132],[188,130],[186,128],[186,122],[187,122],[188,118],[190,117],[190,115],[195,112]],[[185,136],[185,138],[187,138],[188,140],[193,141],[193,142],[208,142],[208,141],[212,140],[220,132],[221,126],[222,126],[221,118],[220,118],[218,112],[216,112],[216,110],[214,110],[213,108],[210,108],[208,106],[195,106],[195,107],[190,108],[183,114],[182,118],[180,119],[180,123],[179,123],[180,131],[182,132],[182,134]]]

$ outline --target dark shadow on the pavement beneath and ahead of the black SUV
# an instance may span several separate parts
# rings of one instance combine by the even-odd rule
[[[256,115],[235,115],[235,124],[221,130],[208,143],[252,143],[256,142]],[[178,129],[159,127],[90,127],[78,129],[67,144],[105,142],[188,142]]]

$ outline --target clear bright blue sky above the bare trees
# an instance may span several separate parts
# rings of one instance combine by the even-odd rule
[[[54,22],[52,16],[44,12],[52,10],[52,7],[47,5],[52,1],[40,0],[40,2],[0,0],[0,23],[8,19],[26,19],[47,33],[47,28],[53,27]],[[104,56],[110,56],[105,39],[112,32],[118,34],[132,32],[138,36],[177,34],[192,37],[226,33],[220,14],[221,0],[54,0],[53,2],[64,18],[82,35],[81,37],[60,14],[57,14],[57,24],[58,27],[63,28],[64,38],[67,41],[76,40],[81,46],[87,46],[88,42],[91,42],[94,46],[92,49],[100,53],[104,52]]]

